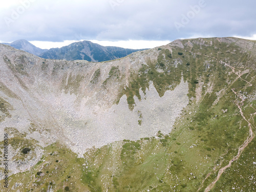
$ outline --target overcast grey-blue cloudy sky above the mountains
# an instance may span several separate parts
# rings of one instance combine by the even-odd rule
[[[253,0],[8,0],[0,4],[0,42],[151,48],[178,38],[256,39],[255,7]]]

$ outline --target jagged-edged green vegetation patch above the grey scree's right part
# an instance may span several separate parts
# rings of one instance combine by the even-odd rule
[[[184,69],[185,66],[179,65],[178,68],[170,65],[166,62],[172,62],[173,58],[168,49],[162,49],[159,53],[157,61],[147,61],[147,66],[143,65],[139,70],[138,75],[131,74],[131,81],[129,86],[126,86],[120,93],[119,98],[122,95],[127,96],[127,103],[129,108],[133,110],[134,108],[134,96],[139,100],[141,96],[139,90],[141,89],[144,93],[146,89],[149,88],[149,82],[153,81],[154,87],[156,88],[159,96],[162,97],[166,90],[173,90],[180,83],[182,73],[183,77],[187,77],[187,73]],[[164,69],[164,72],[159,72],[158,69]],[[172,86],[172,87],[170,87]],[[119,102],[119,100],[117,101]]]

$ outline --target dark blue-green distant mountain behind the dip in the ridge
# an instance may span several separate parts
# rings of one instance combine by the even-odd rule
[[[124,49],[120,47],[100,46],[91,41],[79,41],[61,48],[52,48],[41,55],[46,59],[66,59],[66,60],[88,60],[100,62],[106,60],[125,57],[133,52],[145,49]]]

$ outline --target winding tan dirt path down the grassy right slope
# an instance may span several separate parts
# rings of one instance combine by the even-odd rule
[[[224,63],[224,62],[222,62],[222,61],[220,61],[220,62],[221,62],[221,63]],[[245,87],[251,87],[251,86],[252,86],[252,84],[251,84],[250,82],[248,82],[248,81],[246,81],[245,79],[241,78],[242,73],[241,73],[240,70],[237,70],[237,71],[236,71],[236,69],[235,69],[234,67],[229,66],[227,63],[224,63],[224,65],[225,65],[225,66],[228,66],[228,67],[232,70],[232,72],[233,72],[234,74],[238,75],[238,78],[240,78],[241,80],[243,80],[243,81],[245,81],[245,82],[247,82],[247,83],[249,84],[248,86],[245,86]],[[237,154],[235,157],[233,157],[233,159],[231,159],[231,160],[229,161],[228,165],[226,165],[225,167],[222,167],[222,168],[219,170],[218,176],[216,177],[216,179],[215,179],[212,183],[210,183],[210,184],[205,188],[205,190],[204,190],[205,192],[208,192],[210,189],[212,189],[212,188],[214,187],[215,183],[220,179],[220,177],[221,177],[221,175],[224,173],[224,171],[225,171],[228,167],[231,166],[231,164],[232,164],[233,161],[238,160],[238,158],[240,157],[240,155],[241,155],[242,152],[244,151],[245,147],[252,141],[252,139],[253,139],[254,136],[255,136],[254,133],[253,133],[253,131],[252,131],[252,127],[253,127],[252,124],[245,118],[244,113],[243,113],[243,111],[242,111],[242,106],[243,106],[243,104],[244,104],[245,99],[243,99],[243,97],[241,97],[240,95],[238,95],[237,92],[234,91],[234,89],[232,89],[232,92],[233,92],[235,95],[237,95],[237,99],[236,99],[235,103],[236,103],[236,105],[237,105],[238,108],[239,108],[239,111],[240,111],[241,116],[242,116],[243,119],[248,123],[248,127],[249,127],[249,136],[248,136],[247,139],[244,141],[244,143],[239,147],[238,154]],[[241,101],[239,101],[239,99],[241,99]],[[252,107],[252,106],[251,106],[251,107]],[[253,108],[253,107],[252,107],[252,108]],[[253,109],[254,109],[254,108],[253,108]],[[255,110],[255,109],[254,109],[254,110]],[[255,110],[255,111],[256,111],[256,110]],[[253,114],[250,114],[250,115],[252,116],[252,115],[255,115],[255,114],[256,114],[256,112],[253,113]],[[215,168],[216,168],[216,167],[215,167]],[[211,173],[212,173],[212,172],[211,172]],[[211,173],[209,173],[209,174],[206,176],[206,178],[209,177],[209,175],[210,175]],[[206,179],[206,178],[205,178],[205,179]],[[205,179],[204,179],[204,181],[205,181]],[[200,190],[200,189],[201,189],[201,187],[200,187],[198,190]]]

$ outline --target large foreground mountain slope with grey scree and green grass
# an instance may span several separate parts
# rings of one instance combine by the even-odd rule
[[[97,63],[0,45],[2,191],[255,191],[255,44]]]

